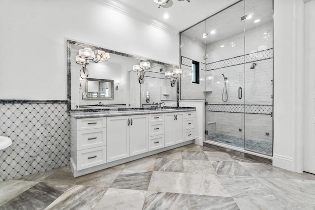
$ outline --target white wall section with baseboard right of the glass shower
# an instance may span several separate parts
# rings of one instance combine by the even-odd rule
[[[302,172],[303,0],[274,0],[273,165]]]

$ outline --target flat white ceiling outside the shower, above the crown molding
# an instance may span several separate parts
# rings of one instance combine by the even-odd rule
[[[216,12],[219,12],[238,0],[190,0],[190,2],[187,0],[172,0],[173,5],[169,8],[158,8],[158,4],[153,0],[93,1],[104,6],[112,7],[129,16],[136,16],[142,21],[151,22],[152,25],[168,28],[168,30],[178,33]],[[168,13],[168,19],[163,18],[165,13]]]

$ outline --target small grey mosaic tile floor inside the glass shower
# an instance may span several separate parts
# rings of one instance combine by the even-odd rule
[[[242,149],[244,148],[244,138],[242,137],[230,136],[222,133],[212,133],[208,135],[208,140]],[[272,143],[245,138],[245,149],[271,155]]]

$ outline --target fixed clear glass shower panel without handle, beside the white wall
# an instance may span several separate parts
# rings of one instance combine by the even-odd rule
[[[245,0],[245,150],[272,155],[273,0]]]

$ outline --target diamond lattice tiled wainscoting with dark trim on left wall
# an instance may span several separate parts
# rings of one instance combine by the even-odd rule
[[[0,100],[0,180],[68,165],[70,117],[66,101]]]

